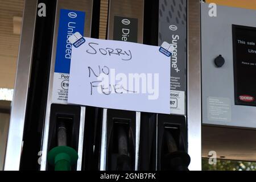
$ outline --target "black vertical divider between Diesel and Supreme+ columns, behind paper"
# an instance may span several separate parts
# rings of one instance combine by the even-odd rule
[[[143,44],[158,46],[159,1],[144,1]],[[140,113],[138,170],[155,169],[156,113]]]

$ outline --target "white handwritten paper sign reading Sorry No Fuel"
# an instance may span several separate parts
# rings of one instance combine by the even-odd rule
[[[170,114],[170,57],[159,47],[84,39],[72,47],[68,103]]]

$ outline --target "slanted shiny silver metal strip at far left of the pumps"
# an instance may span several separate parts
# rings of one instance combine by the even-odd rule
[[[30,81],[32,47],[34,44],[36,10],[37,1],[25,1],[14,96],[11,106],[5,170],[19,170],[20,154],[22,152],[24,119],[27,105],[27,92]]]

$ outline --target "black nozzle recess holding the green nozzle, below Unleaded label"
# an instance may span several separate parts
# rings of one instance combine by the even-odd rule
[[[48,169],[75,169],[79,148],[80,107],[70,105],[51,106],[49,129]],[[73,168],[72,168],[73,167]]]

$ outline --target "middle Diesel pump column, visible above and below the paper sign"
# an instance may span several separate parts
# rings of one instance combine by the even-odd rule
[[[143,11],[143,0],[110,0],[108,39],[142,43]],[[125,20],[129,23],[125,23]],[[140,114],[135,111],[104,109],[101,170],[138,169]]]

